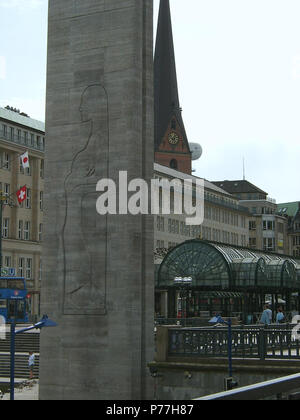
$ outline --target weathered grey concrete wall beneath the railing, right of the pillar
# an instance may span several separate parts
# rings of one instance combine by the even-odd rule
[[[227,359],[199,359],[197,362],[183,359],[149,364],[155,375],[155,399],[190,401],[224,391],[224,379],[228,378]],[[299,373],[299,365],[297,360],[239,359],[233,361],[233,376],[242,387]]]

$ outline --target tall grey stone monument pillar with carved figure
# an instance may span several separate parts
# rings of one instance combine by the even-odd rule
[[[153,177],[152,25],[152,0],[49,0],[40,399],[153,398],[152,217],[96,211],[100,180]]]

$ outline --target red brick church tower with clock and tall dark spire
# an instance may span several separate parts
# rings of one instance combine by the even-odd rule
[[[191,174],[192,155],[179,104],[169,0],[160,0],[154,57],[155,162]]]

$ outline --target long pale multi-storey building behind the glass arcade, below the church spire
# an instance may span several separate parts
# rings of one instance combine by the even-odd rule
[[[157,178],[169,180],[197,179],[158,163],[154,164],[154,173]],[[188,226],[185,214],[177,215],[172,211],[170,215],[155,216],[154,248],[169,249],[195,238],[246,247],[249,245],[249,216],[248,209],[239,205],[236,197],[204,180],[203,223]]]

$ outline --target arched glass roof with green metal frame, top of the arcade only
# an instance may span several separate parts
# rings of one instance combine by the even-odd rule
[[[249,248],[186,241],[162,261],[157,288],[175,288],[175,277],[191,277],[197,290],[300,290],[300,261]]]

